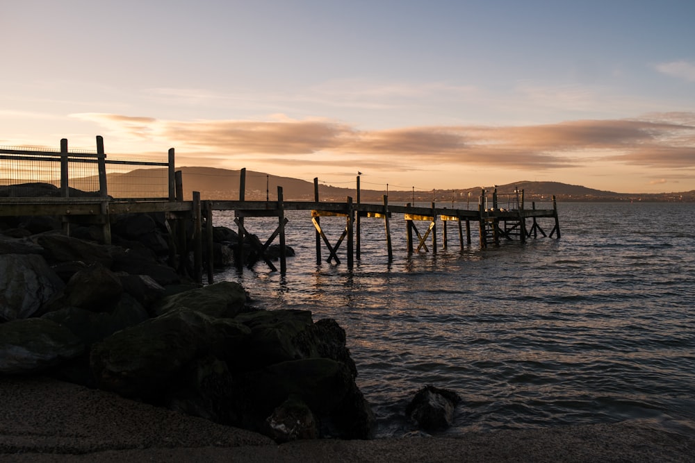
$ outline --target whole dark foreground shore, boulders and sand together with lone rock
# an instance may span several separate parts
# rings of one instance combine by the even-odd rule
[[[638,423],[370,439],[334,320],[195,285],[156,214],[116,221],[109,246],[57,228],[0,222],[0,461],[693,461],[692,438]],[[215,230],[222,264],[233,235]],[[408,414],[448,426],[459,398],[418,396]]]

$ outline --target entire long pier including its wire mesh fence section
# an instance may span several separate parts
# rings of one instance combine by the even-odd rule
[[[139,185],[132,192],[110,192],[108,178],[117,175],[117,170],[137,169],[141,171]],[[27,174],[29,174],[27,178]],[[28,181],[27,181],[28,180]],[[32,185],[50,183],[60,190],[60,196],[31,196]],[[307,212],[316,230],[316,262],[343,264],[352,269],[354,260],[359,260],[361,247],[361,221],[378,219],[384,222],[384,249],[388,262],[393,260],[393,235],[398,228],[404,231],[407,253],[439,251],[449,249],[458,242],[460,249],[471,246],[471,228],[477,228],[477,242],[481,248],[498,246],[502,241],[541,237],[560,237],[559,217],[555,196],[552,208],[536,208],[525,203],[523,190],[514,192],[491,192],[481,190],[477,208],[446,208],[434,201],[429,207],[414,203],[395,205],[389,203],[384,194],[382,203],[360,201],[359,176],[356,196],[347,196],[344,202],[321,201],[318,178],[314,178],[314,201],[285,201],[282,187],[277,187],[277,200],[247,201],[245,199],[245,169],[241,169],[239,198],[205,200],[198,192],[193,199],[183,200],[181,171],[175,169],[174,149],[167,153],[165,161],[114,160],[104,151],[104,140],[97,137],[95,151],[70,151],[67,140],[60,142],[55,151],[40,149],[10,148],[0,146],[0,217],[22,217],[48,215],[60,217],[63,232],[70,235],[71,224],[92,224],[102,230],[103,241],[111,243],[111,223],[120,214],[162,212],[167,229],[170,230],[172,262],[187,260],[193,253],[192,268],[195,280],[202,283],[206,270],[208,283],[213,281],[213,212],[234,211],[238,228],[239,249],[245,242],[261,256],[270,271],[277,271],[275,264],[266,257],[268,246],[279,240],[279,271],[287,271],[286,227],[291,226],[285,217],[288,210]],[[80,194],[77,195],[78,191]],[[143,194],[147,190],[148,194]],[[83,192],[89,192],[86,196]],[[252,217],[275,217],[277,228],[261,238],[250,230]],[[332,243],[325,233],[326,217],[342,217],[345,227],[338,229],[339,239]],[[332,221],[333,223],[334,221]],[[187,231],[192,225],[192,235]],[[452,239],[448,228],[455,227],[457,239]],[[550,232],[546,229],[550,226]],[[438,233],[441,228],[441,233]],[[270,231],[270,230],[264,230]],[[205,235],[204,235],[205,234]],[[312,239],[312,237],[306,237]],[[341,246],[345,243],[344,251]],[[326,251],[326,252],[324,252]],[[176,254],[176,255],[174,255]],[[243,267],[243,259],[238,262]]]

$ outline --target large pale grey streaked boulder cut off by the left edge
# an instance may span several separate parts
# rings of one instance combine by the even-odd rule
[[[0,255],[0,319],[26,319],[65,284],[40,255]]]

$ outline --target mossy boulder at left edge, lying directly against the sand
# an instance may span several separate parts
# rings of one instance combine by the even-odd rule
[[[0,323],[0,373],[38,373],[79,356],[84,344],[48,319]]]

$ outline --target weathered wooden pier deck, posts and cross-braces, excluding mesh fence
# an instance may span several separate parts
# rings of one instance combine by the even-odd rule
[[[103,140],[97,137],[97,160],[105,160]],[[63,162],[68,160],[67,140],[61,142]],[[0,160],[22,160],[22,158],[36,158],[42,153],[38,151],[0,149]],[[103,164],[100,164],[102,166]],[[110,224],[113,217],[120,214],[134,214],[147,212],[163,212],[167,219],[168,228],[172,234],[172,243],[180,258],[187,259],[188,253],[193,251],[195,280],[202,282],[202,273],[206,267],[208,282],[213,280],[213,211],[234,211],[235,224],[238,227],[239,249],[247,242],[259,253],[261,260],[268,265],[270,271],[277,271],[275,264],[266,257],[268,246],[279,239],[279,263],[281,273],[287,271],[286,264],[286,226],[289,225],[286,211],[304,210],[307,219],[310,219],[316,230],[316,262],[325,261],[333,264],[342,264],[344,256],[348,269],[352,269],[354,260],[360,259],[361,247],[361,220],[380,219],[384,221],[384,247],[386,258],[393,260],[393,229],[394,219],[402,220],[406,237],[407,253],[431,252],[439,250],[437,226],[441,224],[442,249],[450,246],[448,225],[453,224],[457,229],[460,249],[471,246],[471,224],[477,224],[480,247],[499,245],[502,240],[518,239],[525,242],[526,239],[543,237],[560,237],[557,203],[553,196],[553,207],[550,209],[537,209],[535,203],[531,208],[525,206],[524,192],[498,194],[497,190],[491,192],[481,191],[478,198],[478,207],[475,210],[438,207],[432,201],[430,207],[418,207],[407,203],[405,205],[389,204],[388,196],[383,196],[381,204],[361,203],[359,194],[359,177],[357,178],[357,201],[348,196],[345,202],[320,201],[318,194],[318,178],[314,179],[314,201],[284,201],[282,187],[277,188],[277,201],[247,201],[245,199],[245,169],[241,170],[239,199],[229,201],[205,201],[200,194],[193,193],[192,201],[183,201],[183,187],[181,171],[174,169],[174,150],[168,153],[168,162],[161,165],[167,166],[169,179],[167,180],[167,196],[158,199],[113,199],[108,196],[106,174],[99,167],[99,195],[95,197],[70,197],[59,198],[31,198],[31,197],[0,197],[1,216],[31,216],[51,215],[61,217],[64,232],[70,234],[70,224],[73,222],[98,224],[104,230],[104,242],[110,243]],[[65,181],[61,176],[61,187],[67,192],[67,167]],[[61,172],[63,172],[61,169]],[[507,203],[498,201],[500,196],[507,198]],[[490,203],[491,202],[491,203]],[[507,205],[507,207],[501,207]],[[264,242],[249,230],[249,224],[245,223],[248,217],[276,217],[277,228],[272,230]],[[322,217],[344,217],[345,228],[339,239],[332,243],[329,241],[321,223]],[[546,233],[541,228],[541,220],[550,220],[553,228]],[[193,236],[186,235],[186,224],[193,223]],[[528,227],[530,225],[530,228]],[[543,224],[545,225],[545,224]],[[418,228],[419,227],[419,228]],[[464,232],[465,228],[465,232]],[[270,230],[265,230],[270,231]],[[206,239],[203,233],[206,233]],[[190,239],[192,238],[192,239]],[[345,242],[345,252],[338,251]],[[192,243],[192,244],[191,244]],[[206,249],[203,249],[206,243]],[[193,249],[190,249],[192,247]],[[322,251],[327,251],[323,255]],[[186,257],[184,257],[186,256]],[[243,267],[243,258],[238,262]]]

